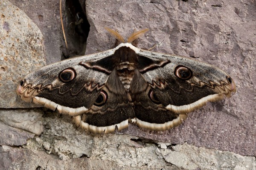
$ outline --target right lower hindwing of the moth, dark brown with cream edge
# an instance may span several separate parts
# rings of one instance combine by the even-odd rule
[[[150,130],[168,130],[180,125],[186,119],[186,114],[169,111],[157,99],[154,99],[152,87],[136,70],[129,89],[134,102],[136,124]]]

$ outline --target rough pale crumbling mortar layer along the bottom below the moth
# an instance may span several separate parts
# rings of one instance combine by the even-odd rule
[[[44,133],[22,147],[0,147],[0,169],[233,169],[253,170],[253,156],[140,139],[122,134],[93,135],[69,116],[47,112]],[[1,127],[2,128],[2,127]],[[11,144],[8,144],[11,145]],[[14,145],[16,146],[16,145]]]

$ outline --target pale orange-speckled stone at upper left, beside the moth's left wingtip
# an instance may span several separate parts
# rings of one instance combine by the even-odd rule
[[[31,108],[16,94],[20,80],[46,64],[43,35],[38,27],[9,1],[1,1],[0,108]]]

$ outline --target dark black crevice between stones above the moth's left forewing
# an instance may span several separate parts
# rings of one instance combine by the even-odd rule
[[[61,47],[61,59],[84,55],[90,31],[85,11],[85,0],[67,0],[63,12],[64,30],[67,46]],[[61,33],[62,34],[62,33]]]

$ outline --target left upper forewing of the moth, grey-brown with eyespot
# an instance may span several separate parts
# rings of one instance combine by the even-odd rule
[[[108,50],[47,65],[26,75],[17,94],[26,102],[40,103],[70,116],[84,113],[113,71],[112,55],[113,51]]]

